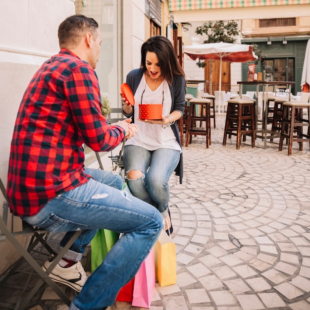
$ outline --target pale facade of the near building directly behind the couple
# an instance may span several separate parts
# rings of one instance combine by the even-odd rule
[[[171,37],[168,0],[11,0],[0,1],[0,177],[6,185],[10,141],[18,106],[35,71],[59,51],[57,29],[67,16],[82,13],[100,25],[103,39],[96,68],[101,91],[121,105],[120,84],[140,66],[140,48],[151,35]],[[103,153],[109,168],[109,153]],[[88,165],[97,164],[90,158]],[[0,212],[2,202],[0,195]],[[25,241],[26,244],[26,241]],[[0,242],[0,274],[17,258]]]

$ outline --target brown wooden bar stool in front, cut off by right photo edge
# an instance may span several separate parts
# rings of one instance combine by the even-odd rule
[[[304,118],[303,112],[307,109],[308,118]],[[288,139],[288,155],[292,155],[293,142],[299,143],[299,151],[303,150],[303,142],[309,142],[310,146],[310,103],[300,101],[288,101],[283,103],[282,128],[280,135],[279,151],[282,151],[283,139]],[[304,133],[304,127],[308,127]],[[294,133],[296,133],[294,135]]]

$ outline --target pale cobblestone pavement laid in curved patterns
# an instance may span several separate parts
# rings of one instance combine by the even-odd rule
[[[156,283],[150,309],[308,310],[309,144],[294,145],[291,156],[287,147],[278,151],[277,139],[266,149],[248,139],[236,150],[233,137],[223,147],[223,120],[216,119],[209,149],[202,137],[184,148],[183,184],[170,179],[177,284]],[[37,304],[67,309],[43,297]]]

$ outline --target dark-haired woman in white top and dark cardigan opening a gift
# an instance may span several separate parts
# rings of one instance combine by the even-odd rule
[[[135,105],[125,101],[123,114],[132,116],[139,132],[125,144],[125,180],[135,197],[161,212],[166,232],[172,233],[168,181],[175,171],[182,183],[183,157],[176,121],[184,113],[186,82],[171,42],[163,36],[147,40],[141,47],[141,67],[128,73],[126,83]],[[140,103],[162,103],[161,119],[139,119]]]

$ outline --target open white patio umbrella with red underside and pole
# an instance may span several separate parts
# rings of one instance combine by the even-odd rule
[[[219,59],[219,91],[222,87],[222,61],[248,62],[258,59],[251,45],[237,43],[219,42],[185,46],[184,53],[193,60]]]

